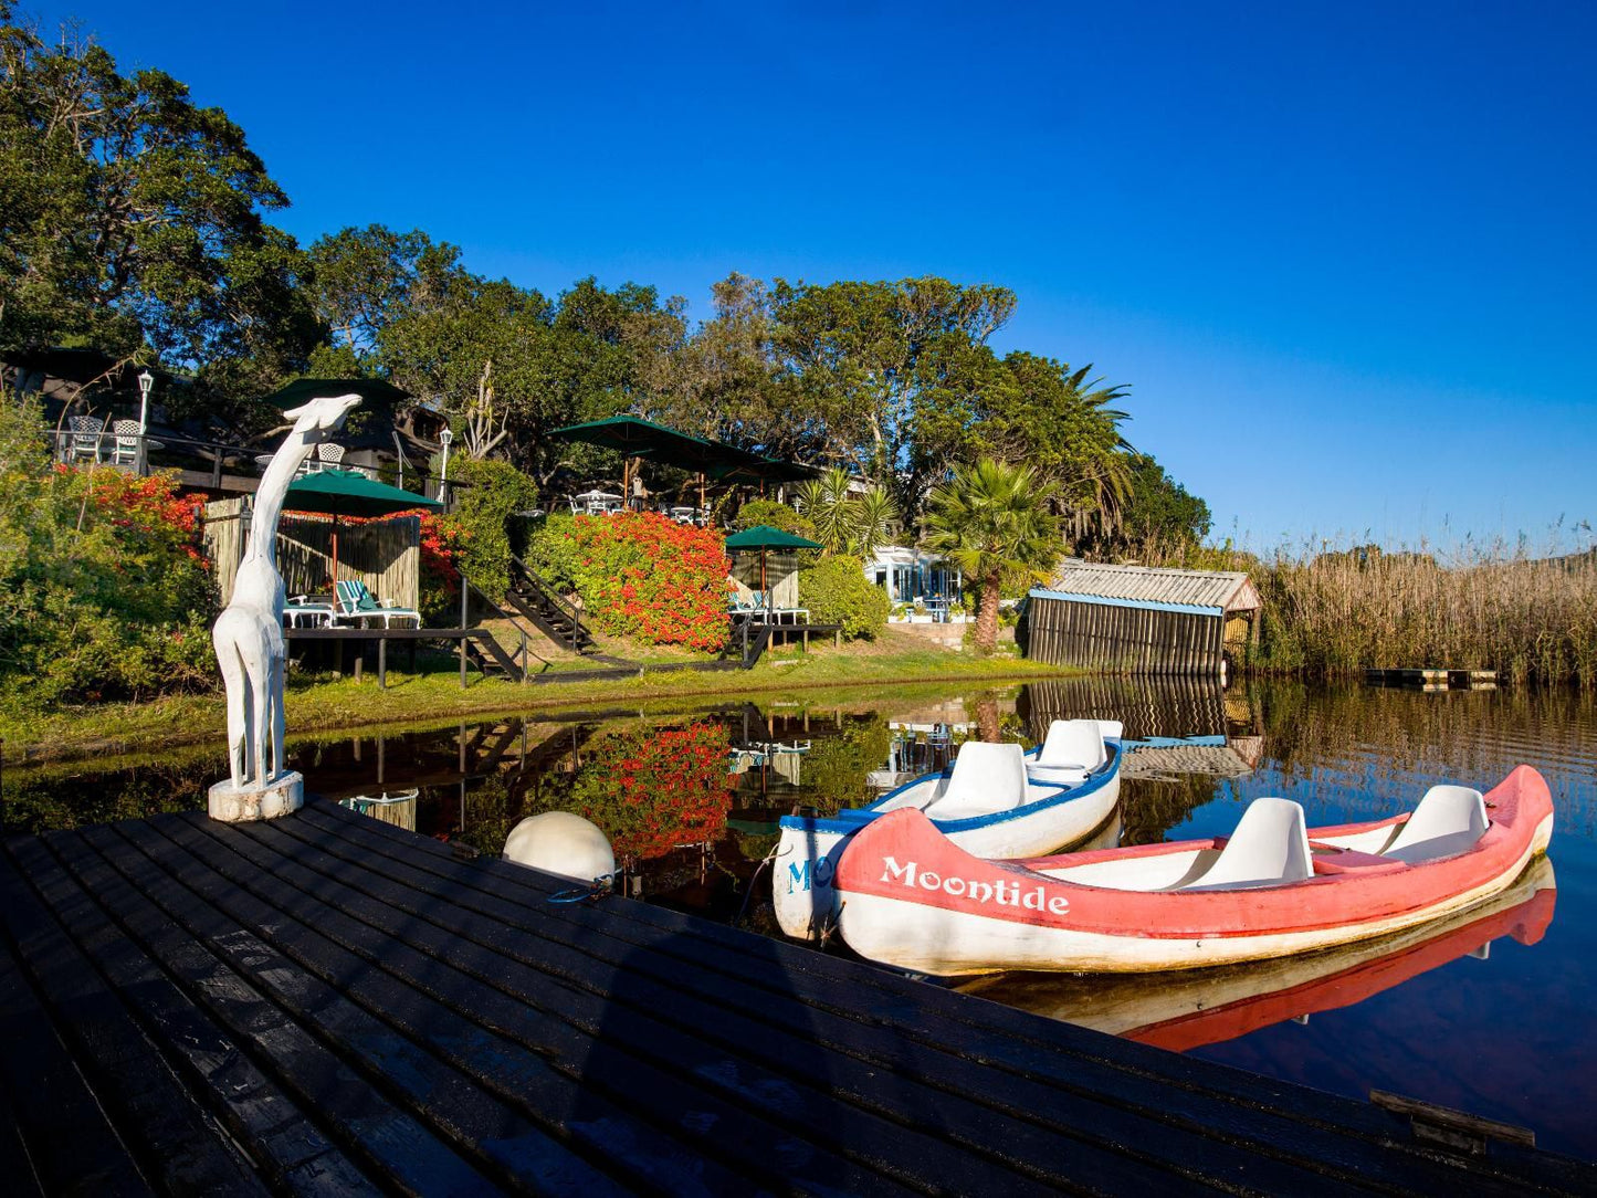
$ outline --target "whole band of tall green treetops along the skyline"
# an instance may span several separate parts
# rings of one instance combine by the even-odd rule
[[[268,224],[286,204],[224,112],[70,30],[46,40],[0,0],[0,351],[88,343],[187,367],[190,411],[222,419],[295,374],[388,377],[465,452],[540,482],[599,470],[554,426],[636,412],[864,476],[910,527],[981,458],[1049,484],[1078,545],[1123,545],[1127,513],[1140,538],[1206,527],[1201,500],[1126,442],[1123,385],[993,353],[1006,288],[733,273],[690,331],[685,302],[650,286],[586,278],[549,299],[422,230],[351,227],[302,251]]]

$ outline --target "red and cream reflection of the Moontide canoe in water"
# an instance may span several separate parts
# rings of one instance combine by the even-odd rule
[[[1536,944],[1557,899],[1552,863],[1538,858],[1508,890],[1394,936],[1341,949],[1158,978],[995,974],[960,989],[1024,1011],[1159,1048],[1187,1051],[1287,1019],[1353,1006],[1492,941]]]

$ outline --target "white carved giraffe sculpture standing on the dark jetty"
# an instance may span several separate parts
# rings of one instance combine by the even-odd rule
[[[342,425],[358,395],[311,399],[286,415],[294,428],[260,476],[249,545],[233,578],[233,597],[216,618],[211,642],[227,684],[227,749],[232,778],[211,787],[217,819],[268,819],[303,800],[303,779],[283,768],[283,575],[278,518],[289,482],[316,446]]]

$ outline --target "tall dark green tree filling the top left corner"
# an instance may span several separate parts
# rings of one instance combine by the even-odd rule
[[[201,398],[276,380],[318,334],[264,217],[284,206],[220,109],[70,30],[46,45],[0,0],[0,348],[203,366]]]

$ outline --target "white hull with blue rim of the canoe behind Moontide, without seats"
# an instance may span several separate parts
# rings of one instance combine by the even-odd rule
[[[1044,802],[992,816],[928,823],[952,843],[981,858],[1036,856],[1076,845],[1115,813],[1119,802],[1119,760],[1116,744],[1100,775],[1078,787],[1056,792],[1054,799]],[[905,787],[894,794],[902,789]],[[797,815],[783,818],[771,874],[771,904],[783,933],[795,939],[816,939],[835,923],[838,907],[834,880],[843,848],[856,832],[888,815],[894,813],[875,813],[867,807],[842,811],[830,819]]]

